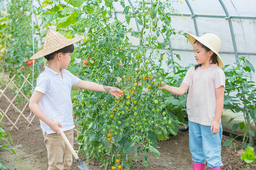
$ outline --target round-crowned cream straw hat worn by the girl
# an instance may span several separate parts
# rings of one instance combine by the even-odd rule
[[[221,68],[224,67],[224,63],[221,60],[220,55],[219,55],[221,41],[217,35],[207,33],[205,35],[198,37],[198,36],[192,35],[187,32],[185,32],[185,34],[187,34],[189,36],[189,42],[192,46],[194,45],[195,40],[198,40],[200,43],[202,43],[203,45],[208,47],[210,50],[212,50],[217,55],[217,61],[218,61],[219,65],[217,63],[216,63],[216,65],[218,65]]]

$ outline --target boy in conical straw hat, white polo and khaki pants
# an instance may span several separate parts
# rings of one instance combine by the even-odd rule
[[[67,69],[74,51],[73,43],[83,36],[67,39],[54,30],[48,30],[43,49],[31,59],[45,57],[49,64],[36,80],[36,88],[31,96],[29,108],[40,119],[48,155],[48,170],[69,170],[72,165],[72,153],[62,139],[62,128],[71,145],[73,145],[73,128],[71,88],[76,87],[108,92],[119,98],[121,90],[97,83],[83,81],[72,75]],[[52,121],[55,118],[57,122]],[[57,132],[57,133],[56,133]]]

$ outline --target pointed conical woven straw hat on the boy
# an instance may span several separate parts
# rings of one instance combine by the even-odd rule
[[[83,39],[82,35],[79,35],[72,39],[68,39],[64,35],[62,35],[61,33],[58,33],[55,30],[48,30],[45,37],[43,49],[38,51],[36,54],[32,55],[30,59],[31,60],[38,59],[45,55],[51,54],[57,50],[60,50],[68,45],[72,45],[75,42],[82,39]]]

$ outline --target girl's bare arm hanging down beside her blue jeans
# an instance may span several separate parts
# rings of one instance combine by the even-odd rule
[[[220,131],[220,117],[223,110],[224,105],[224,86],[221,85],[219,88],[216,89],[216,112],[215,112],[215,119],[210,127],[210,131],[213,132],[212,134],[216,134]]]

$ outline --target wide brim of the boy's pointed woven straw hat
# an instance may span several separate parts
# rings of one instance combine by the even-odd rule
[[[30,60],[35,60],[35,59],[41,58],[43,56],[49,55],[57,50],[60,50],[64,47],[68,46],[68,45],[72,45],[82,39],[83,39],[83,36],[79,35],[75,38],[67,39],[67,41],[65,41],[65,43],[63,43],[63,44],[60,43],[57,48],[54,48],[54,49],[44,49],[43,48],[42,50],[38,51],[36,54],[32,55]]]

